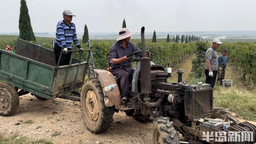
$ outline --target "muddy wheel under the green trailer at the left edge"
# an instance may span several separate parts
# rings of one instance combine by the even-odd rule
[[[13,115],[19,108],[19,96],[14,87],[0,83],[0,115]]]

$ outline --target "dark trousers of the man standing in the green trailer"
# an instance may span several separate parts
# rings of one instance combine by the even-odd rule
[[[56,60],[56,65],[58,63],[59,60],[59,56],[61,52],[62,47],[58,46],[58,45],[54,45],[53,51],[55,53],[55,60]],[[68,51],[70,51],[71,48],[68,48]],[[71,53],[67,53],[67,54],[62,54],[61,59],[60,59],[60,63],[59,66],[64,66],[64,65],[68,65],[69,64],[69,60],[71,57]]]

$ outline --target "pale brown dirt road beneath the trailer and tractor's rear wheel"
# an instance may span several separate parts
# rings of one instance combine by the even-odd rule
[[[152,123],[139,122],[122,112],[114,114],[110,130],[95,134],[88,131],[83,122],[80,102],[59,98],[42,101],[30,94],[21,96],[19,100],[19,110],[15,115],[0,116],[0,133],[4,137],[19,134],[35,140],[44,138],[63,144],[152,143]],[[27,120],[32,120],[32,124],[26,124]]]

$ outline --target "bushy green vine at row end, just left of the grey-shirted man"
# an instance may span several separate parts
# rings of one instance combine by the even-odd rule
[[[196,58],[192,60],[192,70],[195,78],[204,76],[205,52],[209,48],[207,42],[196,42]]]

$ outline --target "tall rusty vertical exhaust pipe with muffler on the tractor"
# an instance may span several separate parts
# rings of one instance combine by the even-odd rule
[[[150,58],[147,56],[145,37],[144,37],[145,27],[141,28],[141,42],[142,42],[142,54],[143,57],[140,59],[140,86],[141,93],[146,97],[151,93],[151,66]]]

